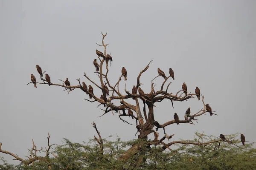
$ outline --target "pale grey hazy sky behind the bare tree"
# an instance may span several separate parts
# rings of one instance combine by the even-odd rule
[[[94,121],[102,137],[119,135],[122,140],[137,139],[134,120],[128,125],[118,113],[96,108],[98,103],[84,100],[89,96],[76,89],[70,94],[64,88],[39,85],[34,88],[30,74],[39,81],[35,65],[47,71],[53,83],[69,78],[90,85],[83,76],[99,82],[94,74],[95,50],[113,57],[109,79],[114,84],[124,66],[127,69],[127,90],[131,91],[137,76],[152,59],[141,77],[142,89],[149,93],[151,80],[160,67],[168,74],[171,67],[175,80],[169,92],[176,93],[186,82],[188,91],[201,89],[205,102],[218,116],[199,117],[198,124],[172,124],[167,134],[173,140],[193,139],[194,133],[219,136],[243,133],[246,141],[256,142],[254,109],[256,64],[256,1],[254,0],[1,0],[0,1],[0,142],[2,149],[25,158],[34,139],[37,147],[61,144],[62,138],[72,142],[88,142],[96,135]],[[154,80],[155,90],[162,77]],[[119,88],[124,92],[125,82]],[[100,91],[93,86],[95,94]],[[129,100],[134,104],[133,100]],[[119,101],[117,101],[119,105]],[[184,119],[188,107],[197,113],[203,104],[198,99],[156,103],[155,120],[163,124],[173,120],[175,112]],[[143,107],[141,107],[142,109]],[[154,128],[155,129],[155,128]],[[163,130],[160,129],[160,138]],[[150,136],[153,139],[153,136]],[[108,138],[115,140],[116,137]],[[12,157],[0,153],[11,163]],[[16,161],[17,163],[17,161]],[[18,162],[19,163],[19,162]]]

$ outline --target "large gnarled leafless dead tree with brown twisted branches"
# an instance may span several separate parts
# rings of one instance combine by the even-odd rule
[[[96,44],[104,47],[104,54],[99,52],[98,50],[96,50],[97,54],[100,53],[100,56],[95,54],[96,57],[98,57],[98,59],[99,59],[99,70],[96,69],[96,71],[94,72],[97,75],[97,77],[99,78],[100,83],[97,84],[93,79],[91,79],[87,76],[86,72],[84,72],[84,77],[86,77],[88,81],[86,83],[83,82],[82,85],[80,82],[80,78],[77,79],[78,85],[67,86],[67,85],[65,85],[64,81],[61,79],[59,79],[59,80],[63,82],[62,84],[56,84],[56,83],[51,82],[50,85],[63,87],[63,88],[65,88],[64,91],[67,91],[67,92],[71,92],[76,88],[81,89],[82,91],[84,91],[84,93],[92,96],[92,99],[93,99],[93,100],[89,100],[89,99],[85,99],[85,100],[87,100],[89,102],[98,102],[99,106],[104,107],[104,109],[101,108],[101,110],[103,111],[102,116],[107,113],[114,114],[114,112],[116,112],[116,113],[119,113],[120,120],[130,124],[126,120],[122,119],[123,116],[129,116],[131,118],[131,120],[133,119],[133,121],[136,122],[136,128],[137,128],[137,133],[139,133],[138,134],[139,139],[148,139],[149,134],[151,134],[151,133],[154,134],[154,140],[148,141],[146,143],[148,146],[162,145],[163,150],[165,150],[166,148],[170,149],[169,146],[171,146],[174,143],[184,143],[182,141],[174,141],[174,142],[170,142],[170,143],[163,142],[163,140],[166,138],[168,140],[170,138],[172,138],[172,136],[174,134],[171,136],[168,136],[165,133],[165,135],[161,139],[158,139],[159,133],[157,132],[157,130],[159,128],[164,129],[168,125],[176,124],[176,122],[174,119],[172,119],[173,116],[170,116],[170,120],[168,122],[159,124],[154,119],[154,107],[156,107],[157,102],[162,102],[163,100],[167,99],[170,101],[172,108],[174,108],[174,102],[183,102],[188,99],[192,99],[195,96],[197,97],[197,94],[187,92],[187,94],[185,95],[183,93],[183,90],[177,91],[175,93],[169,92],[169,86],[172,82],[169,82],[168,80],[171,77],[171,75],[169,75],[167,78],[165,78],[163,80],[163,83],[162,83],[160,89],[155,89],[154,79],[156,79],[159,76],[155,77],[154,79],[151,80],[151,91],[149,93],[144,93],[143,86],[142,86],[143,83],[140,82],[140,77],[143,75],[143,73],[145,71],[148,70],[149,65],[152,62],[152,60],[138,74],[137,82],[134,83],[134,86],[136,87],[136,90],[134,91],[135,93],[134,92],[131,93],[130,91],[128,91],[126,89],[126,84],[125,84],[124,90],[125,90],[126,94],[121,94],[121,92],[119,91],[119,82],[122,81],[123,75],[121,74],[121,70],[120,70],[120,77],[115,84],[112,84],[111,82],[113,82],[113,81],[110,82],[110,80],[108,79],[108,72],[109,72],[108,62],[113,61],[113,64],[114,64],[114,62],[115,62],[115,60],[117,60],[117,58],[115,59],[113,57],[113,60],[112,60],[112,57],[109,54],[107,54],[107,46],[109,44],[104,43],[104,39],[107,36],[107,33],[106,34],[101,33],[101,34],[102,34],[102,45],[97,44],[97,43]],[[92,58],[92,61],[93,61],[93,59],[94,58]],[[103,72],[104,67],[106,68],[106,72]],[[42,79],[42,80],[47,82],[45,79]],[[48,85],[48,83],[45,83],[45,82],[37,82],[37,83]],[[29,82],[28,84],[30,84],[30,83],[32,83],[32,82]],[[89,88],[89,90],[87,90],[87,85],[89,85],[89,84],[94,88],[94,91],[101,91],[102,94],[100,96],[96,96],[96,95],[94,95],[94,93],[92,91],[90,91],[90,88]],[[166,85],[166,88],[164,88],[165,85]],[[132,88],[129,88],[129,89],[132,89]],[[109,96],[108,96],[108,93],[110,94]],[[133,100],[134,102],[128,103],[127,99],[134,99]],[[143,105],[140,105],[140,102],[139,102],[140,100],[143,102]],[[115,105],[114,104],[114,103],[116,103],[115,101],[119,101],[118,103],[121,103],[121,105]],[[194,122],[198,122],[197,121],[198,117],[204,115],[204,113],[207,112],[205,110],[206,105],[204,103],[203,95],[202,95],[202,103],[203,103],[203,105],[202,105],[203,107],[200,111],[198,111],[197,113],[194,113],[194,114],[190,114],[189,119],[188,119],[187,115],[185,114],[185,119],[181,120],[181,118],[180,118],[178,120],[178,122],[181,125],[183,123],[194,124]],[[147,109],[148,112],[146,112],[146,107],[148,108]],[[141,108],[143,108],[143,110],[141,110]],[[133,111],[134,114],[133,115],[128,114],[128,109]],[[216,115],[215,113],[213,113],[213,114]],[[93,125],[93,126],[96,128],[95,125]],[[154,126],[157,127],[157,130],[153,129]],[[96,139],[96,140],[102,146],[102,141],[100,139]],[[219,140],[210,141],[209,143],[214,143],[214,142],[218,142],[218,141]],[[202,143],[193,142],[191,144],[201,145]],[[128,158],[129,156],[131,156],[132,153],[134,153],[131,150],[138,150],[139,148],[140,148],[140,145],[131,147],[130,149],[128,149],[127,153],[123,154],[122,158],[120,158],[120,159]]]

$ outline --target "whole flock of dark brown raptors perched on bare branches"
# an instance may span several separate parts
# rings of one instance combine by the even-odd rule
[[[112,65],[112,57],[110,54],[107,54],[106,56],[104,56],[104,54],[101,52],[101,51],[98,51],[96,50],[96,54],[98,55],[98,57],[103,57],[105,60],[106,60],[106,63],[108,65],[108,61],[111,62],[111,65]],[[97,62],[97,59],[94,59],[93,60],[93,65],[95,66],[96,68],[96,71],[98,72],[99,71],[99,63]],[[43,80],[43,73],[42,73],[42,69],[39,65],[36,65],[36,69],[38,71],[38,73],[40,74],[40,78]],[[127,80],[127,71],[125,69],[125,67],[122,67],[122,76],[125,78],[125,81]],[[162,76],[164,79],[167,79],[165,73],[160,70],[160,68],[157,68],[157,72],[158,72],[158,76]],[[169,74],[170,76],[172,77],[172,79],[174,79],[174,71],[172,70],[172,68],[169,68]],[[48,85],[51,86],[51,78],[49,77],[48,74],[45,74],[45,80],[48,82]],[[33,74],[31,74],[31,81],[32,83],[34,84],[34,87],[37,88],[36,86],[36,78]],[[70,86],[70,82],[68,80],[68,78],[66,78],[64,84],[66,86]],[[88,94],[88,91],[90,92],[89,94],[89,97],[90,99],[92,98],[91,94],[93,94],[93,87],[91,85],[89,85],[89,89],[87,88],[87,85],[85,84],[85,82],[82,82],[82,87],[83,87],[83,90]],[[109,89],[108,87],[105,85],[105,91],[106,91],[106,95],[109,96]],[[71,90],[71,88],[69,88]],[[182,90],[184,92],[185,95],[187,95],[187,86],[186,86],[186,83],[183,82],[183,85],[182,85]],[[138,88],[138,92],[141,96],[145,96],[145,93],[144,91],[139,87]],[[135,85],[133,86],[132,88],[132,94],[137,94],[137,88],[135,87]],[[198,87],[195,88],[195,94],[198,98],[198,100],[200,100],[200,89]],[[94,95],[94,94],[93,94]],[[100,96],[100,99],[103,99],[103,95]],[[135,99],[135,97],[133,97],[133,99]],[[105,104],[103,104],[104,107],[105,107]],[[210,113],[210,116],[212,116],[212,108],[209,106],[209,104],[206,104],[205,106],[207,112]],[[133,115],[133,112],[131,111],[131,109],[129,108],[128,109],[128,114],[132,117],[132,119],[134,119],[134,115]],[[186,113],[185,113],[185,119],[187,120],[187,117],[190,117],[190,108],[188,108],[186,110]],[[177,125],[180,125],[179,124],[179,116],[177,115],[177,113],[174,113],[174,120],[175,122],[177,123]],[[226,140],[225,136],[223,134],[220,135],[220,138],[222,140]],[[243,134],[241,134],[241,142],[244,146],[244,142],[245,142],[245,137]]]

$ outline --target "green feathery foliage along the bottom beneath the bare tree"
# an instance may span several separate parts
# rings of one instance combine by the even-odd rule
[[[213,142],[205,145],[176,144],[176,150],[162,150],[160,146],[149,147],[144,140],[122,142],[117,136],[116,141],[103,139],[104,149],[100,153],[99,144],[90,139],[86,144],[70,142],[63,139],[63,144],[57,145],[52,156],[46,161],[35,161],[29,166],[23,164],[8,164],[3,158],[0,170],[253,170],[256,167],[256,149],[253,143],[241,147],[239,134],[227,135],[228,142]],[[210,142],[215,136],[195,133],[195,139],[183,142]],[[236,139],[236,140],[234,140]],[[122,154],[132,146],[143,146],[128,159]]]

